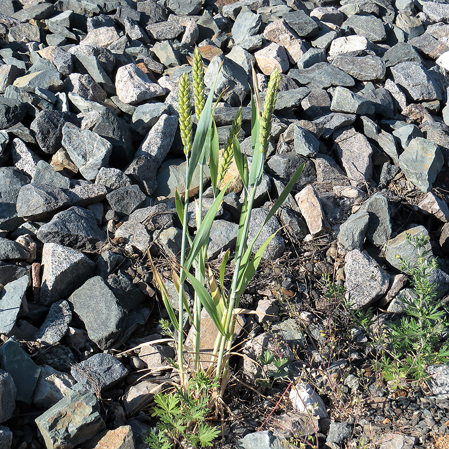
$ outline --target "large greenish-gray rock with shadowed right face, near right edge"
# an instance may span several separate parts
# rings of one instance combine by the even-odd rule
[[[413,139],[399,156],[399,167],[404,175],[423,192],[432,189],[443,164],[439,146],[422,137]]]

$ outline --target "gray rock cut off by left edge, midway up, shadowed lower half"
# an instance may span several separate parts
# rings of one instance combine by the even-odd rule
[[[16,203],[20,188],[29,178],[13,167],[0,168],[0,229],[15,230],[23,220],[17,217]]]

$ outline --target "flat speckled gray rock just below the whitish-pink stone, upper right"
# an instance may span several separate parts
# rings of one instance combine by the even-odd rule
[[[332,60],[332,64],[361,81],[383,79],[385,76],[385,63],[378,56],[339,54]]]

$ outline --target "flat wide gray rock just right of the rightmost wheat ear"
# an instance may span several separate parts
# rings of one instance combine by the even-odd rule
[[[326,89],[331,86],[352,87],[355,84],[352,76],[328,62],[318,62],[302,70],[291,69],[288,76],[307,84],[311,89]]]

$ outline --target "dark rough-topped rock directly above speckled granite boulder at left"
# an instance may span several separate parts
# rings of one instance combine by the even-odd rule
[[[44,242],[59,243],[69,248],[86,252],[96,252],[106,240],[106,235],[98,227],[92,212],[71,207],[56,214],[49,223],[37,231],[37,238]]]

